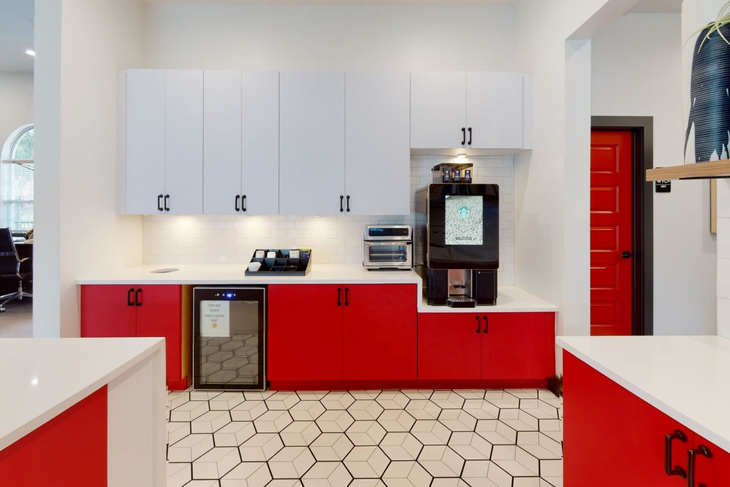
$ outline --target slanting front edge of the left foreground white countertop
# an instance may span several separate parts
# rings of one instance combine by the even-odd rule
[[[157,341],[155,341],[152,345],[143,350],[137,356],[134,356],[134,358],[132,358],[131,360],[126,361],[124,364],[120,365],[120,367],[117,367],[116,369],[107,372],[107,374],[102,375],[101,377],[99,377],[99,379],[94,380],[93,383],[78,391],[73,392],[63,401],[58,402],[53,407],[50,407],[45,411],[45,413],[37,415],[31,421],[28,421],[27,423],[18,426],[18,428],[12,430],[12,432],[5,434],[3,437],[0,437],[0,450],[7,448],[9,445],[12,445],[13,443],[20,440],[20,438],[26,436],[26,434],[33,432],[40,426],[43,426],[48,421],[52,420],[59,414],[63,413],[65,410],[69,409],[69,407],[72,407],[74,404],[77,404],[82,399],[85,399],[93,392],[99,390],[99,388],[101,388],[102,386],[110,383],[112,380],[115,380],[117,377],[120,377],[124,373],[128,372],[128,370],[132,369],[137,364],[142,363],[142,361],[144,361],[146,358],[153,356],[153,354],[158,350],[162,350],[164,352],[164,347],[164,338],[158,338]]]

